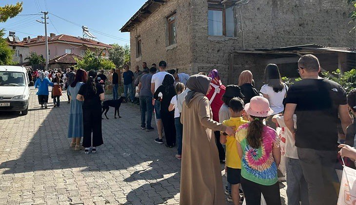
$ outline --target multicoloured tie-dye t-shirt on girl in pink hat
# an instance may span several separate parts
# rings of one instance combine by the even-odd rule
[[[252,148],[247,142],[249,123],[237,129],[236,140],[242,148],[241,176],[262,185],[277,183],[277,165],[273,158],[273,148],[279,147],[279,138],[274,129],[264,126],[262,143],[258,149]]]

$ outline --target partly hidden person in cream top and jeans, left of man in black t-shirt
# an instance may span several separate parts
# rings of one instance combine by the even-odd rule
[[[293,115],[294,126],[297,127],[297,115]],[[297,205],[299,201],[301,204],[308,205],[308,184],[303,175],[303,170],[299,163],[297,154],[297,147],[295,139],[291,131],[284,123],[284,117],[278,115],[273,116],[272,121],[277,123],[281,128],[278,137],[280,138],[280,152],[281,156],[286,157],[287,170],[287,198],[288,204]]]

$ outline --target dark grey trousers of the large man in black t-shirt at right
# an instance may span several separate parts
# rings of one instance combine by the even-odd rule
[[[337,151],[297,147],[297,152],[310,205],[336,205],[336,187],[340,186],[335,171]]]

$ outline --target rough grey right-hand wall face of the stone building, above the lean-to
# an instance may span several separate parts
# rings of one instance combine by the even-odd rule
[[[241,18],[237,18],[236,38],[208,36],[208,1],[193,1],[192,35],[194,39],[193,63],[195,72],[217,68],[223,82],[227,82],[229,51],[273,48],[300,44],[320,44],[334,47],[355,47],[355,33],[349,33],[350,6],[339,0],[251,0],[241,7]],[[237,10],[238,11],[238,10]],[[239,13],[237,13],[239,16]],[[255,76],[263,72],[266,65],[244,64],[235,60],[236,75],[249,67],[256,70]],[[256,62],[252,60],[252,62]],[[256,67],[258,66],[258,67]],[[236,80],[237,81],[237,80]],[[259,83],[257,83],[259,84]]]

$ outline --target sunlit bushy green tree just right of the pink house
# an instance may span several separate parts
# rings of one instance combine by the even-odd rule
[[[115,68],[114,62],[99,56],[100,54],[97,55],[96,53],[87,50],[81,60],[75,58],[77,61],[76,67],[86,71],[99,69],[109,70]]]

